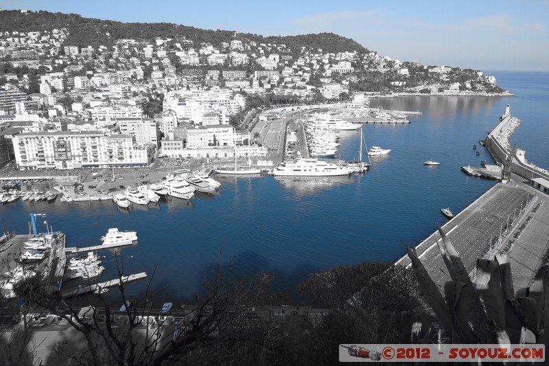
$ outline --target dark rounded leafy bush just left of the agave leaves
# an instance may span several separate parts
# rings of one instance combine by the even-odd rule
[[[317,365],[335,365],[341,343],[403,343],[400,314],[419,304],[410,270],[382,262],[312,273],[299,290],[329,309],[294,332],[292,353],[301,365],[311,354]]]

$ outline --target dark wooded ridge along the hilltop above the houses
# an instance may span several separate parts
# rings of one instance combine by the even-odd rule
[[[201,30],[187,25],[173,23],[121,23],[102,19],[84,18],[78,14],[52,13],[45,11],[26,12],[20,10],[3,10],[0,12],[1,32],[40,32],[67,28],[69,36],[63,45],[78,45],[81,47],[112,46],[118,39],[132,38],[152,41],[154,38],[187,39],[194,41],[194,47],[200,43],[219,45],[235,39],[235,32],[230,30]],[[322,49],[323,52],[368,52],[368,49],[356,43],[351,38],[345,38],[333,33],[303,34],[298,36],[261,36],[257,34],[239,33],[237,38],[242,41],[256,43],[285,44],[292,53],[300,52],[301,47],[307,49]]]

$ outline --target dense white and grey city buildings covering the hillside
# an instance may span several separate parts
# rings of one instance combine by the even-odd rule
[[[331,100],[362,108],[367,103],[354,98],[356,89],[501,91],[481,71],[401,62],[344,38],[357,48],[328,52],[303,41],[257,41],[237,33],[231,39],[216,33],[209,41],[108,34],[108,43],[90,38],[91,45],[70,41],[71,29],[0,32],[0,131],[15,128],[0,136],[0,165],[10,156],[23,168],[144,165],[157,151],[226,157],[246,139],[231,122],[262,104]],[[334,37],[326,38],[326,48],[339,46],[329,44]],[[370,72],[386,80],[360,80]],[[427,75],[436,85],[425,85]],[[253,145],[237,150],[266,154]]]

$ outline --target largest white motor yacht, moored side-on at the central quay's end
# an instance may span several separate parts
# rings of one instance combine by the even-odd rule
[[[336,176],[354,172],[354,168],[327,163],[317,159],[297,159],[281,163],[271,174],[274,176]]]

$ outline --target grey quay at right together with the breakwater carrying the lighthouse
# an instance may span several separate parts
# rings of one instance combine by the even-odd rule
[[[462,167],[469,175],[491,179],[505,176],[506,184],[498,183],[442,226],[471,279],[476,276],[477,258],[498,256],[511,263],[515,290],[533,284],[549,250],[549,196],[535,184],[539,179],[549,179],[549,172],[526,162],[524,151],[510,147],[509,138],[519,123],[519,119],[511,117],[508,105],[486,139],[495,161],[505,163],[503,171],[496,165]],[[436,245],[439,240],[435,231],[415,249],[434,283],[443,288],[450,277]],[[411,265],[408,256],[396,263]]]

